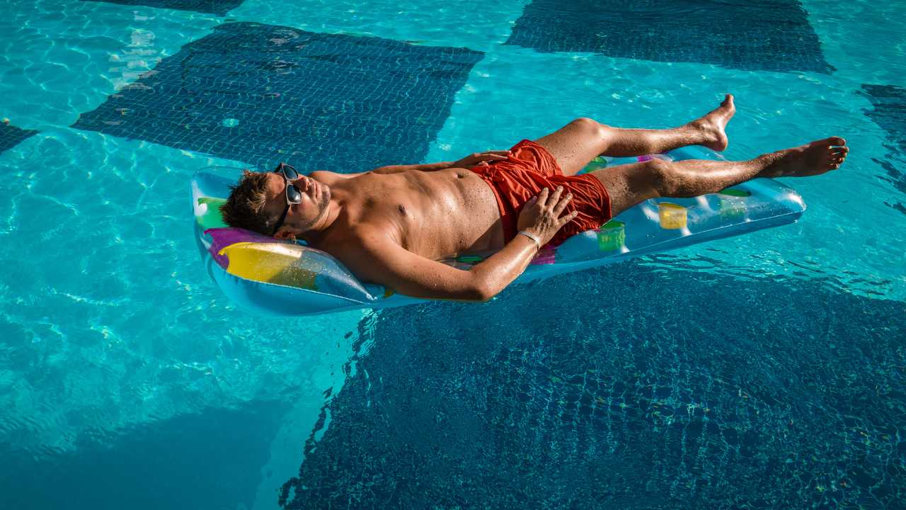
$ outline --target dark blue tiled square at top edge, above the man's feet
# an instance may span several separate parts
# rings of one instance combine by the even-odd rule
[[[695,0],[534,0],[506,44],[753,71],[834,70],[795,0],[730,0],[707,8]]]

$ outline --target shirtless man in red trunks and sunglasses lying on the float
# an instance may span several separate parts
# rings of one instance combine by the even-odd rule
[[[618,129],[581,118],[509,151],[371,172],[246,172],[221,208],[226,222],[305,240],[360,280],[426,299],[487,301],[548,243],[597,228],[653,197],[693,197],[756,177],[818,175],[849,151],[831,137],[746,162],[653,159],[576,175],[599,155],[637,156],[699,144],[722,151],[733,96],[667,130]],[[438,260],[494,252],[469,270]]]

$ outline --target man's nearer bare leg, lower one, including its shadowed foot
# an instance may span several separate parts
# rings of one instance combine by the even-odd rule
[[[651,160],[591,172],[611,196],[613,216],[655,197],[696,197],[756,177],[805,177],[840,168],[849,148],[831,137],[747,162]]]

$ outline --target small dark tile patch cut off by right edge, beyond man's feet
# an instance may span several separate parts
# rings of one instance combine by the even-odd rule
[[[883,160],[872,158],[887,173],[879,177],[906,193],[906,88],[863,84],[862,94],[873,106],[872,110],[865,110],[865,114],[881,126],[891,142],[884,144],[891,152]],[[885,203],[906,214],[906,207],[902,203]]]

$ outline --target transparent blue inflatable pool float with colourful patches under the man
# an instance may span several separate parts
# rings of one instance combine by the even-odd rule
[[[683,148],[639,158],[601,157],[583,172],[651,158],[722,159],[707,149]],[[297,316],[427,301],[362,283],[322,250],[227,227],[219,206],[241,172],[238,168],[207,167],[192,179],[193,223],[201,258],[217,287],[237,305]],[[803,211],[805,203],[798,193],[770,179],[747,181],[691,199],[644,201],[600,229],[577,234],[556,249],[542,250],[513,285],[792,223]],[[481,257],[443,261],[468,269]]]

